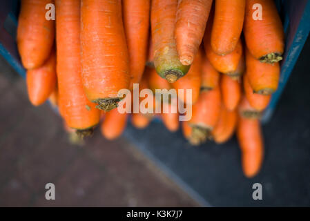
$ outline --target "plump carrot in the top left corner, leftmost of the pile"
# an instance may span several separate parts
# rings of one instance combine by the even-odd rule
[[[46,4],[53,0],[22,0],[17,27],[17,48],[26,69],[39,68],[48,59],[55,39],[55,21],[46,19]]]

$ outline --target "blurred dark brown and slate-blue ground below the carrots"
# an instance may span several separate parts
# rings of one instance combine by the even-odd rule
[[[139,131],[70,144],[49,104],[28,102],[26,82],[0,57],[0,206],[310,206],[310,41],[263,126],[265,157],[242,174],[235,137],[192,147],[155,120]],[[55,184],[56,200],[45,185]],[[252,186],[262,184],[262,200]]]

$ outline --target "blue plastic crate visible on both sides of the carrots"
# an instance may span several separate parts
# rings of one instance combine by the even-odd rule
[[[266,123],[271,119],[278,100],[284,90],[289,75],[296,64],[310,30],[310,1],[275,1],[286,36],[284,59],[281,62],[281,75],[278,90],[272,95],[271,102],[262,117]],[[17,12],[19,1],[1,1],[0,3],[0,54],[22,77],[26,71],[21,65],[16,45]]]

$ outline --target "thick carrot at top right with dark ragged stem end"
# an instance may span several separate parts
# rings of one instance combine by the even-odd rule
[[[255,3],[262,6],[262,20],[253,19]],[[246,0],[244,37],[255,59],[266,63],[282,60],[284,31],[273,0]]]

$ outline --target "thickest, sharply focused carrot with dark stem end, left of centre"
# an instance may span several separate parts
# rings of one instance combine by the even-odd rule
[[[81,0],[81,76],[84,91],[97,108],[110,111],[128,88],[129,57],[121,0]]]

